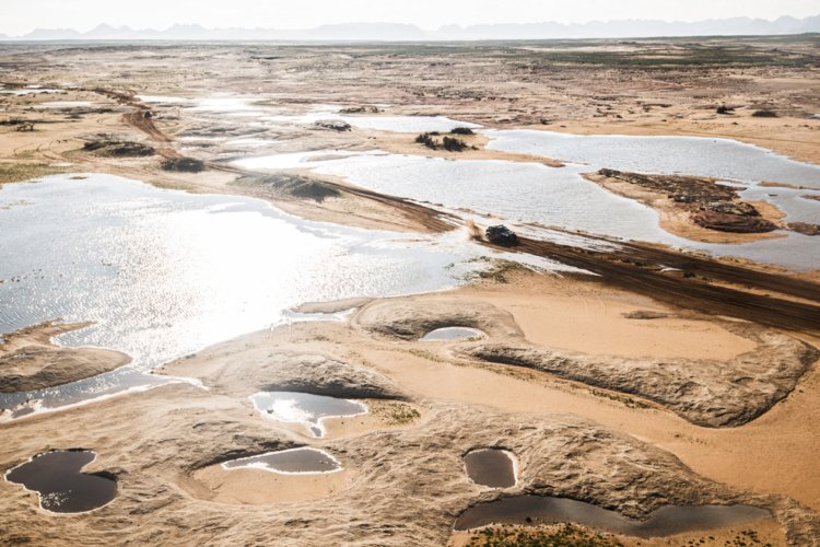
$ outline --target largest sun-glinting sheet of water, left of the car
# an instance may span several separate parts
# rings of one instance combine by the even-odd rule
[[[3,207],[10,205],[10,207]],[[266,202],[68,175],[0,190],[0,333],[93,321],[58,338],[130,354],[115,372],[31,394],[44,408],[164,382],[144,371],[204,346],[292,321],[302,302],[457,284],[482,251],[426,237],[306,222]]]

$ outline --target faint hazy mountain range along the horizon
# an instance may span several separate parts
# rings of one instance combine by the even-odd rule
[[[2,40],[281,40],[281,42],[425,42],[493,39],[639,38],[659,36],[784,35],[820,33],[820,15],[774,21],[750,18],[669,22],[624,20],[562,24],[501,23],[445,25],[423,31],[402,23],[341,23],[306,30],[206,28],[197,24],[177,24],[163,31],[133,30],[101,24],[81,33],[70,28],[38,28],[23,36],[0,35]]]

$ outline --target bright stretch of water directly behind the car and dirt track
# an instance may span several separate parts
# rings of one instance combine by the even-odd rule
[[[583,165],[557,168],[540,163],[444,160],[375,152],[314,164],[317,173],[343,176],[380,193],[442,203],[461,211],[489,213],[514,223],[537,222],[798,269],[817,268],[815,257],[820,256],[820,237],[788,233],[777,240],[721,245],[672,235],[660,228],[658,213],[653,209],[616,196],[582,177],[583,173],[597,168]],[[743,196],[753,194],[768,199],[761,194],[786,195],[781,188],[762,191],[763,188],[750,185]],[[803,196],[813,190],[800,191]],[[820,195],[820,191],[813,194]],[[789,221],[820,222],[820,201],[798,198],[793,193],[786,212],[792,213]]]

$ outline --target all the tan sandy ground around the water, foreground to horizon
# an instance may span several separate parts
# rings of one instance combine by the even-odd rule
[[[253,94],[278,114],[304,114],[315,104],[386,104],[384,115],[441,114],[490,128],[730,137],[820,163],[820,120],[811,118],[820,112],[820,82],[812,72],[817,38],[705,44],[639,40],[613,49],[602,40],[584,51],[566,43],[10,45],[0,53],[9,88],[78,88],[0,95],[0,184],[103,172],[259,197],[311,219],[442,232],[460,219],[364,190],[354,181],[304,171],[245,172],[231,161],[247,150],[196,139],[267,139],[276,142],[272,152],[380,149],[561,161],[489,151],[480,136],[465,137],[476,149],[449,153],[414,143],[411,133],[298,125],[257,131],[243,116],[185,108],[213,97],[214,90]],[[138,98],[142,93],[178,98],[149,103]],[[44,106],[55,101],[67,106]],[[90,105],[71,105],[77,101]],[[734,107],[733,114],[717,114],[721,105]],[[777,116],[752,116],[758,109]],[[33,130],[17,130],[25,124]],[[152,152],[142,155],[142,147]],[[185,158],[202,161],[204,170],[162,167]],[[657,195],[605,187],[649,202],[665,214],[665,229],[686,237],[737,243],[768,236],[694,226]],[[778,221],[778,211],[753,205]],[[502,265],[448,293],[315,303],[302,311],[358,310],[349,323],[249,334],[157,371],[195,377],[206,389],[166,385],[0,424],[8,440],[0,446],[0,472],[49,449],[84,447],[98,454],[86,472],[110,473],[119,491],[98,511],[55,519],[37,509],[36,494],[0,481],[0,543],[444,545],[467,508],[526,492],[587,501],[631,517],[667,504],[706,503],[748,503],[773,514],[742,529],[641,545],[710,536],[712,543],[751,544],[749,529],[763,543],[817,545],[817,272],[797,276],[640,243],[596,253],[523,237],[516,251],[597,276]],[[488,336],[418,340],[452,325]],[[55,348],[48,340],[62,331],[55,328],[66,327],[3,336],[0,349],[7,353],[0,360],[37,348],[36,362],[24,373],[14,371],[35,382],[25,388],[128,360],[102,349]],[[47,380],[39,377],[44,371]],[[316,439],[302,424],[266,419],[254,409],[249,395],[276,389],[362,400],[370,412],[328,419],[327,435]],[[344,470],[296,477],[220,465],[297,446],[327,451]],[[471,482],[461,456],[480,447],[513,452],[519,485],[491,490]],[[469,536],[459,535],[456,544]]]

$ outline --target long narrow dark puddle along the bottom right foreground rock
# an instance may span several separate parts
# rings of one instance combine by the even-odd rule
[[[490,524],[539,525],[569,522],[612,534],[664,537],[684,532],[740,526],[771,516],[768,510],[751,505],[669,505],[653,511],[646,521],[635,521],[583,501],[517,496],[468,509],[456,519],[455,529],[467,531]]]

